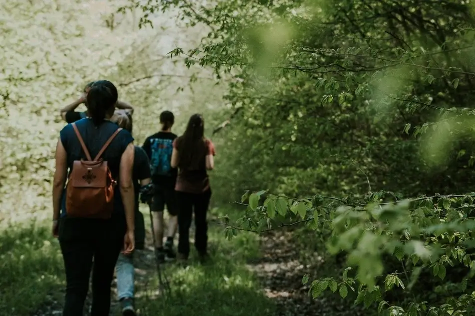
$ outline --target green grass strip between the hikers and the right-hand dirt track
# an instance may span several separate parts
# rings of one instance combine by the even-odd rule
[[[210,225],[211,262],[200,265],[192,258],[189,267],[168,267],[172,295],[155,297],[158,278],[154,277],[144,298],[137,300],[143,316],[248,316],[271,315],[275,306],[260,292],[254,275],[246,268],[248,260],[259,256],[257,236],[238,234],[224,238],[222,226]]]

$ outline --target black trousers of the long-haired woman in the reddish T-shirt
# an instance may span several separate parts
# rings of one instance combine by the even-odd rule
[[[203,193],[177,192],[178,198],[178,253],[184,258],[190,254],[190,226],[193,212],[195,213],[195,248],[200,255],[207,252],[208,245],[208,213],[211,189]]]

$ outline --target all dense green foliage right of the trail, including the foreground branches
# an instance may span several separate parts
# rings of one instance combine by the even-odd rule
[[[215,181],[228,196],[266,190],[243,196],[228,236],[306,222],[348,254],[342,278],[313,281],[314,297],[355,291],[390,315],[473,312],[473,4],[132,2],[140,25],[176,7],[206,24],[201,44],[171,55],[232,78]]]

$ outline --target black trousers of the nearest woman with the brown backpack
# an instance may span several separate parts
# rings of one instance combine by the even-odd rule
[[[123,246],[123,231],[122,227],[111,225],[110,220],[61,220],[59,245],[66,271],[63,316],[84,315],[91,270],[91,316],[109,315],[110,286]]]

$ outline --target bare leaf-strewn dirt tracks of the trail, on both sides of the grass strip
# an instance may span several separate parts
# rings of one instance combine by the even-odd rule
[[[224,238],[224,237],[223,237]],[[274,316],[364,316],[361,308],[352,305],[348,299],[344,302],[337,294],[323,296],[313,300],[308,296],[309,285],[302,286],[302,276],[305,273],[315,275],[317,267],[305,265],[299,261],[299,249],[292,242],[292,233],[276,231],[260,238],[261,258],[248,264],[248,268],[256,273],[262,284],[262,290],[267,297],[277,305]],[[157,289],[149,286],[149,281],[155,277],[151,236],[147,236],[146,249],[138,252],[135,264],[136,297],[144,295],[155,296]],[[49,296],[42,309],[31,316],[60,316],[64,288]],[[116,280],[112,284],[112,303],[110,316],[120,315],[119,304],[116,301]],[[91,297],[88,294],[87,310]]]

